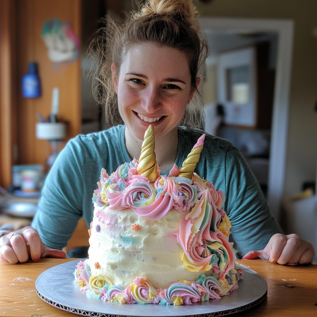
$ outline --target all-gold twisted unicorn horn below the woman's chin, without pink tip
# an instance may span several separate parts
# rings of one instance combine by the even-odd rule
[[[138,174],[147,177],[150,183],[154,183],[159,177],[154,148],[154,128],[150,124],[144,133],[144,141],[138,165]]]

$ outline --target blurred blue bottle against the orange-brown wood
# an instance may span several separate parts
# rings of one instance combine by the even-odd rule
[[[24,98],[38,98],[41,96],[40,77],[37,74],[35,62],[29,62],[29,73],[22,76],[21,85]]]

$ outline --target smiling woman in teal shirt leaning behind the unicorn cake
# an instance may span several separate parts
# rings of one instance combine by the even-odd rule
[[[112,36],[105,42],[101,32],[97,39],[96,91],[111,116],[108,121],[118,124],[122,119],[125,125],[68,142],[45,182],[33,228],[0,239],[1,261],[64,257],[60,249],[78,219],[84,217],[87,225],[92,220],[91,196],[101,167],[112,172],[133,157],[138,159],[149,122],[161,174],[167,175],[174,163],[181,166],[203,133],[193,128],[202,127],[197,87],[206,51],[195,13],[188,0],[152,0],[121,27],[108,21]],[[229,142],[207,135],[195,171],[225,193],[231,236],[245,259],[312,261],[311,244],[297,235],[281,234],[254,176]]]

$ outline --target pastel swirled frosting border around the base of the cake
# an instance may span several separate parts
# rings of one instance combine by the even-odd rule
[[[165,289],[155,289],[146,277],[136,277],[131,285],[123,289],[120,285],[112,285],[105,275],[91,275],[89,267],[85,264],[86,262],[78,262],[74,272],[75,280],[81,289],[92,292],[102,300],[118,301],[121,304],[189,305],[217,299],[236,289],[238,280],[243,276],[242,269],[235,267],[223,277],[218,274],[214,276],[201,274],[196,281],[178,281]],[[88,288],[80,283],[82,273],[85,271],[89,276]]]

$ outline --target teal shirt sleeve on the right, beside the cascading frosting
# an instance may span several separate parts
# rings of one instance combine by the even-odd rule
[[[271,215],[260,185],[241,153],[230,146],[225,159],[225,210],[230,219],[234,248],[244,255],[262,250],[275,233],[282,233]]]

